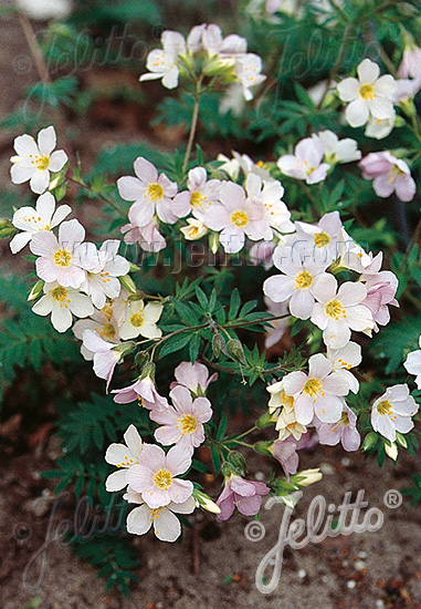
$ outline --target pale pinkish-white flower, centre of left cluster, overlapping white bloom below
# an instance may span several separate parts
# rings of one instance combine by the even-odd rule
[[[59,283],[65,288],[80,288],[85,272],[98,264],[98,252],[94,244],[84,244],[85,229],[76,219],[60,225],[59,240],[49,230],[36,233],[30,242],[36,259],[36,275],[44,281]]]

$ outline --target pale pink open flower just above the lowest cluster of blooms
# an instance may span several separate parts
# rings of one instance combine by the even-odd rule
[[[181,385],[173,388],[169,396],[172,406],[154,409],[150,419],[162,425],[155,432],[155,438],[164,446],[179,444],[193,451],[206,440],[203,423],[212,416],[212,409],[207,398],[191,396],[190,391]]]

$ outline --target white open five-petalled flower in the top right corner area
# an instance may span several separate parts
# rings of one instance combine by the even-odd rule
[[[357,68],[357,79],[345,79],[338,84],[339,97],[350,102],[345,116],[351,127],[360,127],[370,115],[375,118],[391,118],[394,115],[392,99],[397,87],[393,76],[380,76],[380,68],[365,59]]]

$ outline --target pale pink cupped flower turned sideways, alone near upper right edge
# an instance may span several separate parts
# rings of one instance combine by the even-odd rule
[[[358,165],[362,177],[373,180],[377,196],[388,198],[394,192],[403,202],[410,202],[415,196],[415,182],[407,163],[389,152],[369,153]]]

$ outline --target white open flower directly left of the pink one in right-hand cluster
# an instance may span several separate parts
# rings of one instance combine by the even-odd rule
[[[338,290],[335,277],[326,273],[315,280],[313,295],[318,302],[311,320],[323,330],[323,340],[330,349],[345,347],[351,330],[362,332],[372,328],[371,312],[361,304],[367,296],[362,283],[346,281]]]

